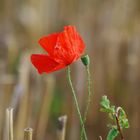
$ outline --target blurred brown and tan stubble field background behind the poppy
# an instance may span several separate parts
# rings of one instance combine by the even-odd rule
[[[34,140],[57,140],[57,119],[68,116],[66,140],[79,139],[79,120],[66,70],[39,75],[32,53],[45,53],[41,36],[75,25],[90,56],[92,104],[86,128],[89,140],[106,139],[108,119],[99,111],[101,96],[127,112],[127,140],[140,138],[139,0],[0,0],[0,139],[5,140],[5,109],[14,107],[14,139],[34,129]],[[86,71],[71,65],[81,111],[85,108]],[[119,139],[119,138],[118,138]]]

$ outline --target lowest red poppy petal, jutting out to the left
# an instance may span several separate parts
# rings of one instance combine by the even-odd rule
[[[65,67],[64,64],[55,62],[50,56],[43,54],[32,54],[31,62],[41,74],[43,72],[51,73]]]

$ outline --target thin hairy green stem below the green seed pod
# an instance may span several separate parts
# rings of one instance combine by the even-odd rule
[[[85,110],[84,119],[83,119],[84,124],[86,122],[88,110],[91,103],[91,74],[90,74],[89,65],[86,66],[86,71],[87,71],[87,82],[88,82],[88,97],[87,97],[86,110]],[[81,131],[81,140],[83,140],[83,127]]]

